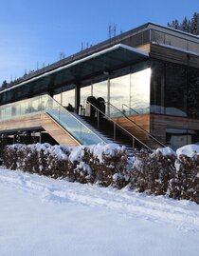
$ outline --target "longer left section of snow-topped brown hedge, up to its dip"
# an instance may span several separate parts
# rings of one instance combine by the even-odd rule
[[[5,148],[3,161],[10,169],[67,178],[72,182],[98,183],[104,187],[126,185],[122,172],[127,167],[127,152],[116,144],[70,148],[16,144]]]

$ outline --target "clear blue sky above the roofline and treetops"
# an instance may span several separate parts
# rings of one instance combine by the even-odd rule
[[[199,11],[198,0],[1,0],[0,84],[147,22],[167,25]]]

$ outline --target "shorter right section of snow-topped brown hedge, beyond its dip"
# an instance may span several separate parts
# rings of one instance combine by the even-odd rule
[[[161,148],[135,153],[130,187],[199,204],[199,146]]]

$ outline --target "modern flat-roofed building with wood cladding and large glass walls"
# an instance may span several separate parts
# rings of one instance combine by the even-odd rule
[[[199,37],[147,23],[24,75],[0,104],[7,142],[198,143]]]

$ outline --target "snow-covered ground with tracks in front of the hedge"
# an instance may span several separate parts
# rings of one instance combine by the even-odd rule
[[[199,255],[199,206],[0,168],[1,256]]]

